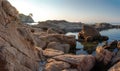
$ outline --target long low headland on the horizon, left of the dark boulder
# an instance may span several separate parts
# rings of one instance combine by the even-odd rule
[[[34,28],[41,28],[48,30],[52,28],[54,31],[59,33],[75,32],[82,29],[83,23],[81,22],[68,22],[65,20],[48,20],[39,22],[38,25],[33,25]]]

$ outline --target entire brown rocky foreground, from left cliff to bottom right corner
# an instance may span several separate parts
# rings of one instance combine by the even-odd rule
[[[120,42],[98,47],[96,56],[69,54],[75,36],[23,25],[18,11],[0,0],[0,71],[119,71]]]

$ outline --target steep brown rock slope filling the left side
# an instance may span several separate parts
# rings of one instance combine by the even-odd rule
[[[29,29],[20,25],[18,11],[0,0],[0,71],[38,71],[39,51]]]

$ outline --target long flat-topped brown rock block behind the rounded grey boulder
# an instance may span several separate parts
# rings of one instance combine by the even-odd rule
[[[64,34],[47,34],[47,33],[35,33],[34,38],[36,44],[39,47],[45,49],[51,42],[59,42],[61,44],[69,44],[71,48],[76,47],[75,36],[65,36]],[[41,44],[43,43],[43,44]],[[42,45],[42,46],[41,46]]]

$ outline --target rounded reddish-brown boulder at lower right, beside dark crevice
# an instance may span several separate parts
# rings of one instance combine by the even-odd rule
[[[97,47],[96,49],[96,59],[98,62],[103,62],[107,65],[112,59],[113,53],[104,49],[103,47]]]

